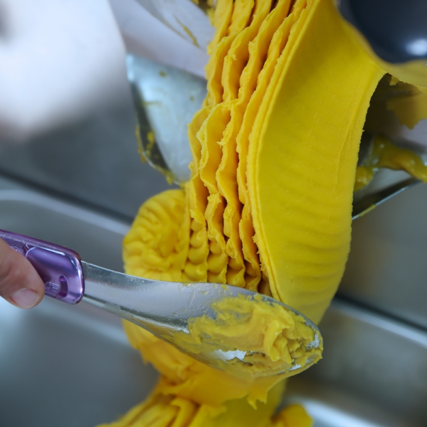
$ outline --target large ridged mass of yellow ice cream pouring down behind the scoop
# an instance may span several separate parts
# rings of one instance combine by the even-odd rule
[[[191,179],[141,207],[125,270],[248,288],[318,323],[347,261],[359,142],[385,71],[332,0],[218,0],[214,26],[208,95],[189,125]],[[250,333],[224,316],[236,339],[278,349],[265,344],[274,313],[258,313]],[[125,330],[161,375],[110,427],[312,426],[302,406],[275,412],[283,375],[236,378],[140,327]],[[301,355],[303,334],[294,322],[280,346]]]

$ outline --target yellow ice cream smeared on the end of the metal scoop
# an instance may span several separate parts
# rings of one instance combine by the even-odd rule
[[[225,352],[218,361],[222,371],[247,379],[284,373],[285,378],[322,357],[322,346],[315,346],[319,338],[305,318],[264,302],[261,295],[226,297],[211,308],[216,317],[190,318],[189,333],[176,332],[172,341],[190,355]]]

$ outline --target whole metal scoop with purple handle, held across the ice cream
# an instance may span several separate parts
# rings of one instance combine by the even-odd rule
[[[45,295],[68,304],[85,300],[143,327],[194,359],[234,376],[290,376],[307,369],[321,358],[322,335],[316,325],[273,298],[216,283],[175,283],[137,278],[85,263],[75,251],[53,243],[9,231],[0,231],[0,238],[36,268],[45,283]],[[190,339],[191,322],[202,317],[215,320],[221,313],[215,310],[214,305],[226,298],[236,298],[236,318],[241,316],[242,321],[248,315],[248,312],[238,311],[238,300],[241,302],[243,298],[248,307],[275,307],[290,313],[295,323],[304,323],[310,332],[302,341],[307,357],[283,363],[280,359],[270,362],[265,354],[255,354],[247,345],[241,348],[236,346],[238,337],[237,340],[224,338],[218,342],[217,348],[213,348],[211,337],[206,335],[194,345]],[[228,325],[218,322],[216,332],[221,334],[223,331],[225,336],[228,330]],[[204,339],[209,345],[205,345]],[[188,345],[189,341],[191,345]],[[260,363],[260,360],[265,362]]]

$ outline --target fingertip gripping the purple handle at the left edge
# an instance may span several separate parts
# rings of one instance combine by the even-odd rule
[[[41,301],[44,290],[33,265],[0,238],[0,296],[17,307],[31,308]]]

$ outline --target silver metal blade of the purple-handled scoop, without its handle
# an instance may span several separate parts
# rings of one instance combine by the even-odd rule
[[[135,323],[145,330],[152,332],[157,337],[164,339],[182,352],[189,354],[194,359],[212,367],[222,369],[236,376],[247,376],[250,367],[254,364],[255,349],[251,347],[237,347],[235,339],[216,340],[202,338],[205,349],[196,344],[190,347],[182,347],[182,339],[179,334],[190,334],[189,323],[197,317],[207,316],[216,319],[217,313],[212,305],[214,302],[226,298],[245,297],[251,305],[275,305],[279,310],[293,312],[295,315],[305,318],[305,325],[314,333],[312,342],[307,343],[307,350],[322,349],[323,339],[317,326],[300,312],[293,310],[273,298],[236,286],[220,285],[218,283],[176,283],[138,278],[131,275],[117,273],[117,271],[100,268],[82,261],[83,274],[85,276],[85,295],[83,300],[95,307],[100,307],[107,312],[122,317]],[[238,307],[238,306],[237,306]],[[250,312],[249,306],[246,306]],[[246,315],[248,312],[236,310],[236,317]],[[216,324],[219,333],[223,337],[228,336],[228,329],[220,322]],[[206,346],[209,344],[209,347]],[[196,350],[194,352],[193,350]],[[265,354],[261,353],[261,356]],[[268,358],[269,359],[269,358]],[[300,364],[296,359],[288,364],[284,361],[278,363],[259,363],[256,376],[270,376],[285,372],[304,371],[320,359],[318,354],[312,354]]]

